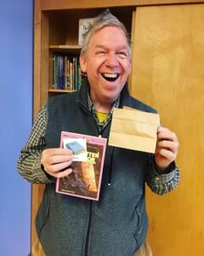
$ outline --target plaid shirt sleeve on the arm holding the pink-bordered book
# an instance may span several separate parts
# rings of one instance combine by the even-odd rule
[[[46,104],[37,114],[26,146],[20,152],[17,169],[20,175],[31,183],[52,183],[41,165],[42,150],[46,148],[45,130],[47,125]]]

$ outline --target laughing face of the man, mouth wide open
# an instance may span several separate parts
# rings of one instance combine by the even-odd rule
[[[82,72],[88,75],[94,107],[98,111],[108,110],[130,73],[127,38],[122,28],[105,26],[95,32],[80,64]]]

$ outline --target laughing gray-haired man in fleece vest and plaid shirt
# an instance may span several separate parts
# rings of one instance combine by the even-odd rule
[[[109,11],[95,19],[85,36],[80,65],[87,75],[81,90],[48,99],[18,162],[28,181],[46,184],[37,212],[37,235],[48,256],[139,255],[146,249],[148,230],[144,183],[158,195],[177,186],[178,140],[160,127],[155,154],[108,146],[99,201],[55,193],[55,178],[72,172],[71,150],[59,148],[61,131],[108,138],[114,108],[156,113],[129,96],[129,38]]]

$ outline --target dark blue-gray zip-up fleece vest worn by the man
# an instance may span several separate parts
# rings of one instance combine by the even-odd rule
[[[59,147],[60,132],[99,136],[87,106],[88,82],[79,92],[48,100],[48,148]],[[121,106],[154,109],[122,90]],[[109,137],[111,124],[102,137]],[[150,154],[108,146],[99,201],[55,193],[47,184],[37,212],[37,235],[48,256],[133,256],[144,242],[148,218],[144,177]],[[111,185],[108,185],[111,183]]]

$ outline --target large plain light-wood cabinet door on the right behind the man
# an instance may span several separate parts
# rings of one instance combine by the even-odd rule
[[[204,255],[203,14],[203,4],[136,9],[130,88],[180,143],[178,188],[164,196],[147,189],[156,256]]]

